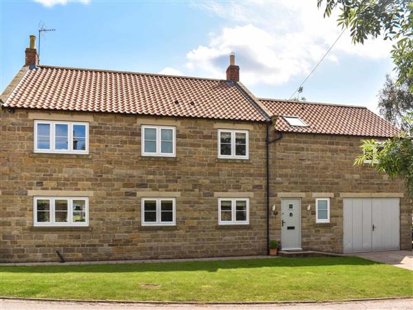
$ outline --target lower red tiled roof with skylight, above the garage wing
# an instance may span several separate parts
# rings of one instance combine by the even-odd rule
[[[275,129],[281,132],[372,137],[392,137],[400,132],[366,107],[276,99],[260,99],[260,101],[271,114],[299,116],[308,125],[307,127],[290,126],[284,118],[279,117],[275,123]]]

